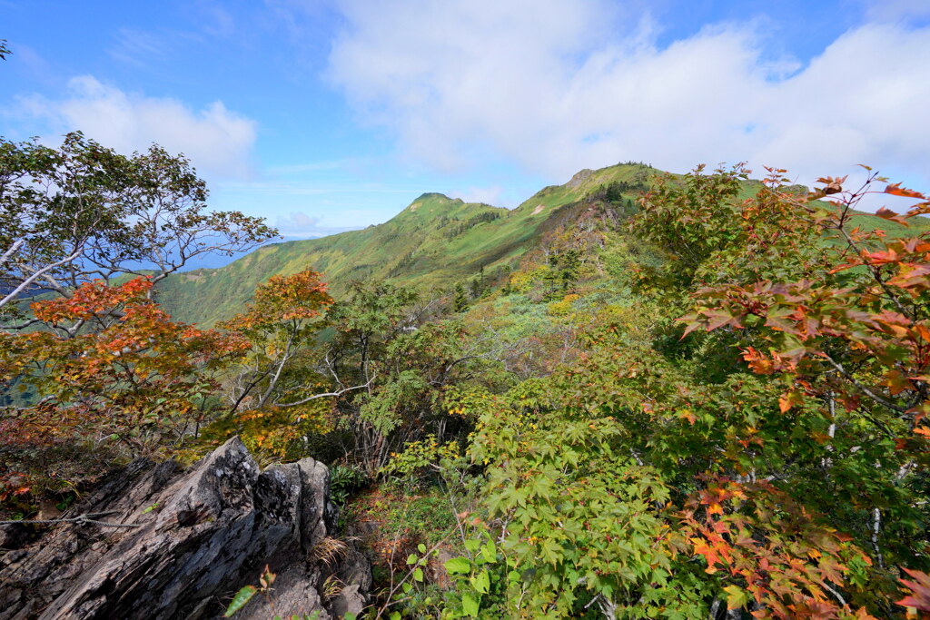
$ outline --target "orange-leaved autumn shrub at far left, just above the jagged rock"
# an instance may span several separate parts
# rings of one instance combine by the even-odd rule
[[[18,484],[2,493],[77,484],[120,457],[166,455],[211,415],[216,373],[245,343],[172,322],[151,288],[147,278],[87,282],[71,297],[33,302],[46,329],[0,333],[0,379],[37,395],[0,411],[0,473],[8,483],[16,472]],[[86,327],[73,337],[54,329],[73,323]]]

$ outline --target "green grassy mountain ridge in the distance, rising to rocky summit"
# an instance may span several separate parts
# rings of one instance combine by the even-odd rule
[[[630,203],[657,174],[662,173],[639,164],[582,170],[512,210],[425,193],[377,226],[268,244],[219,269],[179,273],[160,284],[158,300],[176,320],[212,325],[240,311],[255,287],[272,275],[308,268],[323,273],[337,297],[352,280],[429,288],[450,287],[482,269],[493,277],[514,267],[545,231],[572,217],[573,206],[586,197],[613,186]],[[747,195],[757,189],[754,185],[747,185]],[[880,227],[892,235],[904,231],[866,214],[857,220],[863,228]]]

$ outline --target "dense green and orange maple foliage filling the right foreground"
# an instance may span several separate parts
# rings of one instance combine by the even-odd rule
[[[448,617],[924,613],[930,203],[871,173],[748,175],[658,179],[617,280],[640,318],[604,315],[551,376],[458,399],[477,540],[498,546],[450,569]],[[876,193],[907,213],[858,213]]]

